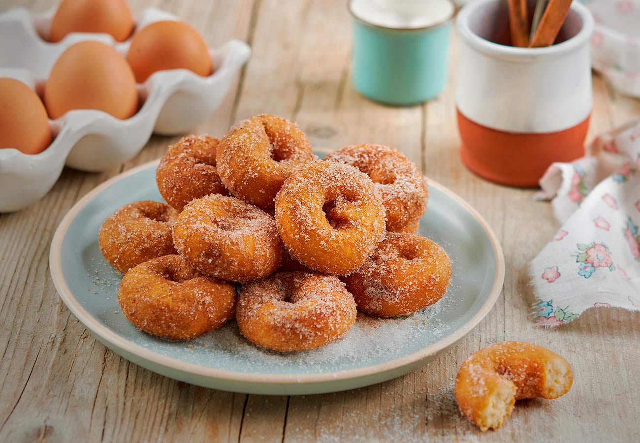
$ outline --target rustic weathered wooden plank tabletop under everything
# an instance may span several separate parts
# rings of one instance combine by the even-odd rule
[[[386,108],[351,86],[345,1],[137,0],[188,20],[210,45],[253,46],[227,99],[196,131],[219,135],[241,118],[296,120],[315,146],[364,141],[403,150],[429,176],[474,205],[506,255],[504,293],[458,346],[404,377],[355,391],[268,397],[213,391],[136,366],[95,341],[63,305],[49,275],[49,244],[68,209],[100,182],[161,156],[175,138],[154,136],[131,161],[104,173],[65,170],[24,211],[0,215],[0,441],[639,441],[640,314],[593,309],[570,325],[534,328],[526,266],[558,223],[532,191],[478,179],[461,165],[454,121],[456,40],[447,89],[433,102]],[[46,10],[8,0],[1,9]],[[591,135],[640,114],[595,77]],[[470,353],[518,339],[547,346],[573,365],[572,391],[519,402],[498,431],[481,434],[458,414],[452,381]]]

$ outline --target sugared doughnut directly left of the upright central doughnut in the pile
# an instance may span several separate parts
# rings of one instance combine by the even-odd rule
[[[233,282],[266,277],[282,261],[273,216],[220,194],[184,207],[173,225],[173,242],[196,270]]]

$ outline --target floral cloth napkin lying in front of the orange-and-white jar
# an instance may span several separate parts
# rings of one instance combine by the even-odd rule
[[[531,262],[536,323],[591,307],[640,310],[640,120],[597,138],[540,180],[562,228]]]

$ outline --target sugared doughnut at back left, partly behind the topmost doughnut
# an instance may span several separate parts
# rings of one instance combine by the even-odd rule
[[[216,169],[219,142],[208,135],[190,135],[169,147],[156,170],[158,190],[168,204],[182,211],[195,198],[228,195]]]

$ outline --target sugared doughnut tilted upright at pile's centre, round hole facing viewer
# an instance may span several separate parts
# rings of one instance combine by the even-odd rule
[[[384,237],[385,207],[365,173],[316,161],[285,181],[276,224],[292,258],[315,271],[347,275]]]

